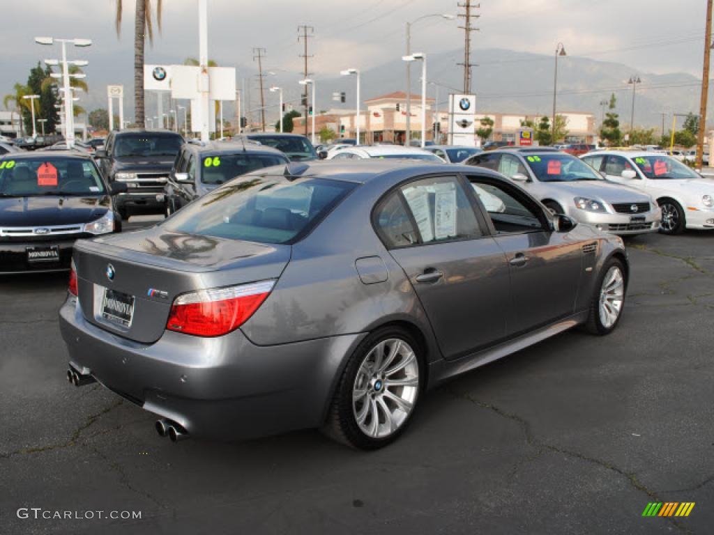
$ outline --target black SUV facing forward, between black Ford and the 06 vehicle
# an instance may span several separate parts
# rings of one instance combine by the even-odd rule
[[[183,137],[171,131],[122,130],[109,133],[104,149],[94,153],[109,183],[123,182],[127,192],[116,197],[116,210],[125,219],[131,213],[164,213],[166,181]]]

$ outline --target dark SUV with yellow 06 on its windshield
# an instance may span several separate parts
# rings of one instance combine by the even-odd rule
[[[287,163],[281,151],[247,140],[186,143],[166,184],[166,216],[236,176]]]

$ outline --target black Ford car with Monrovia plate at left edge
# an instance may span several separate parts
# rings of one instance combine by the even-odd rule
[[[0,274],[69,270],[72,246],[121,229],[94,161],[74,152],[0,156]]]

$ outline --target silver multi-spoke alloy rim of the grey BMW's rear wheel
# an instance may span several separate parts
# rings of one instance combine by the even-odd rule
[[[388,338],[362,361],[352,390],[352,410],[368,437],[388,437],[406,422],[419,389],[416,353],[404,340]]]

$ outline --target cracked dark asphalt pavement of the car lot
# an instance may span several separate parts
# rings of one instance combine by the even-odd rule
[[[132,218],[125,230],[155,218]],[[714,524],[714,235],[628,240],[609,337],[573,331],[422,399],[404,437],[356,452],[314,431],[172,444],[155,418],[71,387],[66,275],[0,280],[4,533],[707,533]],[[687,518],[643,518],[652,501]],[[141,519],[29,519],[141,511]]]

